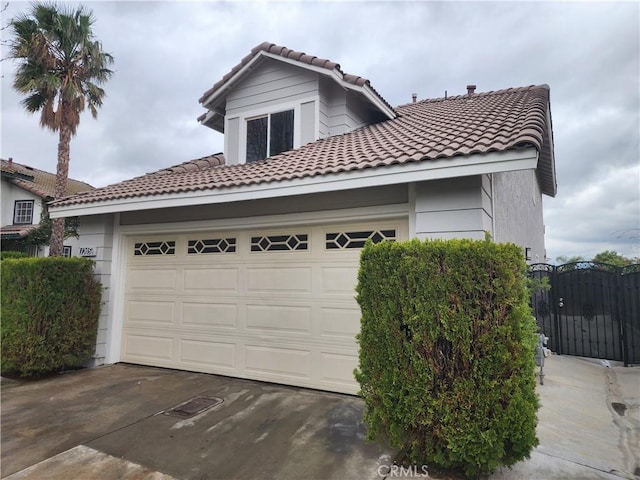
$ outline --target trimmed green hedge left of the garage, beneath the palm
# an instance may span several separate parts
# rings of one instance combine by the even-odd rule
[[[95,348],[101,286],[84,258],[2,261],[2,372],[81,366]]]

